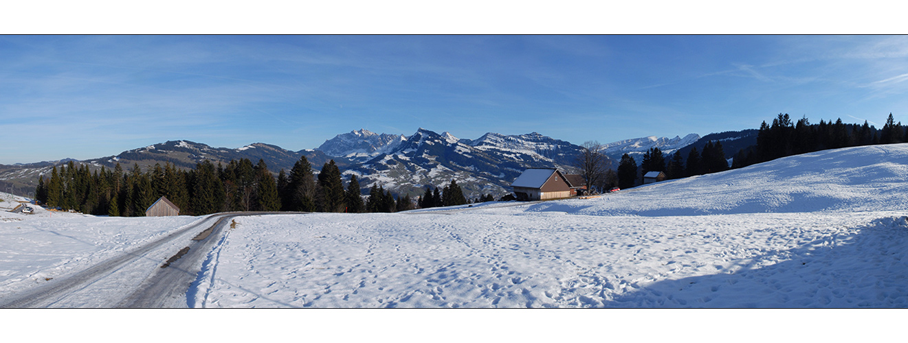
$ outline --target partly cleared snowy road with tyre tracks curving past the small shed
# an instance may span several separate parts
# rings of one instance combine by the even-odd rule
[[[201,263],[201,257],[206,249],[211,249],[225,222],[250,214],[256,213],[203,217],[151,242],[97,262],[81,272],[44,278],[47,282],[43,285],[7,294],[0,298],[0,307],[174,307],[168,300],[183,299],[195,278],[195,272],[190,272],[192,264]],[[165,261],[164,256],[185,248],[189,248],[189,253],[175,261]],[[171,259],[175,257],[171,256]],[[64,261],[58,264],[66,262],[72,263]],[[167,266],[163,267],[165,263]]]

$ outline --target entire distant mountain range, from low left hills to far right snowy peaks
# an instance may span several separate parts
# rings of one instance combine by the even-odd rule
[[[698,138],[690,134],[685,138],[626,139],[606,144],[603,152],[610,157],[609,167],[617,167],[617,160],[625,153],[634,155],[639,162],[638,155],[649,148],[660,148],[670,154]],[[426,187],[446,186],[454,179],[466,195],[476,197],[508,194],[510,183],[528,167],[558,167],[574,173],[572,165],[580,149],[568,141],[538,132],[523,135],[489,132],[469,139],[429,129],[419,129],[410,136],[360,129],[328,139],[316,149],[292,151],[264,143],[213,148],[189,140],[172,140],[81,163],[95,169],[113,168],[120,163],[125,170],[138,164],[147,171],[154,164],[193,168],[203,160],[217,164],[249,158],[255,163],[261,158],[276,173],[281,169],[289,171],[301,156],[306,156],[316,171],[334,159],[344,171],[345,179],[357,175],[364,188],[377,182],[400,195],[421,195]],[[37,176],[49,173],[52,165],[59,163],[0,167],[0,183],[15,182],[13,189],[27,192],[27,188],[34,189]]]

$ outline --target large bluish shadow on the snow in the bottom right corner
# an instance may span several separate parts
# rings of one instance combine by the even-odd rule
[[[656,281],[604,300],[615,308],[905,308],[908,217],[882,218],[716,274]],[[768,264],[771,261],[775,264]],[[636,286],[636,285],[635,285]]]

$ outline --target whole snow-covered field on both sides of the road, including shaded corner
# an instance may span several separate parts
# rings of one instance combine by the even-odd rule
[[[242,217],[184,305],[903,308],[906,181],[900,144],[587,200]],[[0,300],[199,219],[41,215],[0,214]]]

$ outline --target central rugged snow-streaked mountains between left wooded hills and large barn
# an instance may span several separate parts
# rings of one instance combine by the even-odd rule
[[[377,139],[382,135],[393,139]],[[421,195],[426,187],[445,186],[453,179],[468,196],[508,194],[510,182],[527,167],[570,170],[580,149],[536,132],[517,136],[489,132],[475,140],[428,129],[410,136],[382,135],[360,129],[332,138],[319,149],[361,161],[345,174],[357,175],[363,186],[378,182],[395,193]],[[387,143],[376,144],[381,141]]]

